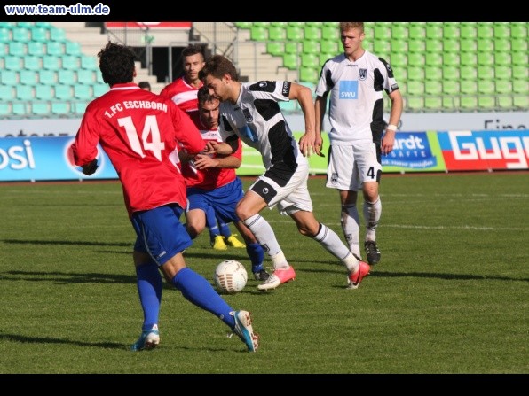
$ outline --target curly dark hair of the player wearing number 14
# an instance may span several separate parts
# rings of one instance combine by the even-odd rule
[[[129,47],[108,42],[105,48],[99,51],[98,58],[103,81],[111,87],[114,84],[134,81],[136,54]]]

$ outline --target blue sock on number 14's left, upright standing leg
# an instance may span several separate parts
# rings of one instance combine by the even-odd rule
[[[151,330],[158,324],[160,304],[162,302],[162,274],[154,262],[149,262],[136,267],[138,276],[138,295],[143,309],[143,326],[141,330]]]

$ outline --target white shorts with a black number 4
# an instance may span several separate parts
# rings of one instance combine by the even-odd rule
[[[374,143],[331,144],[326,187],[358,191],[363,182],[380,182],[381,174],[382,165],[376,159]]]

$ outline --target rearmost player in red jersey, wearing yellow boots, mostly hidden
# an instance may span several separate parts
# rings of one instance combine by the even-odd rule
[[[160,95],[171,99],[191,117],[196,125],[199,125],[198,113],[198,89],[203,85],[198,77],[204,66],[204,54],[200,44],[189,44],[182,50],[184,74],[167,85]],[[206,213],[206,221],[209,229],[211,245],[217,250],[226,250],[227,245],[242,248],[245,247],[237,237],[232,235],[230,227],[222,221],[210,206]],[[218,225],[217,225],[218,223]]]

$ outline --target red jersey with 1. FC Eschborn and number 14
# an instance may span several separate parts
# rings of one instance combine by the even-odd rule
[[[87,106],[73,144],[75,164],[95,159],[98,143],[122,182],[129,216],[170,203],[186,207],[186,183],[174,150],[181,144],[196,154],[205,143],[173,102],[133,82],[115,84]]]

